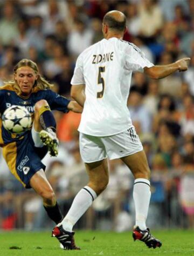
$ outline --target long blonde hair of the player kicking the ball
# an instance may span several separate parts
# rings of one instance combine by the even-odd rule
[[[33,92],[36,92],[39,90],[51,89],[53,85],[47,82],[47,80],[45,80],[43,77],[40,76],[37,64],[30,59],[21,59],[13,68],[13,72],[16,74],[17,70],[23,66],[29,66],[31,69],[33,69],[36,75],[38,75],[38,78],[33,85],[33,89],[32,89]],[[6,84],[12,85],[17,95],[22,94],[22,91],[15,79],[12,79],[9,82],[6,82]]]

